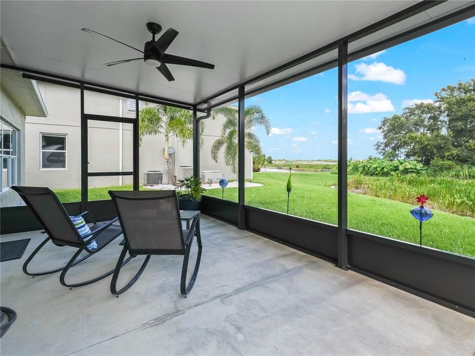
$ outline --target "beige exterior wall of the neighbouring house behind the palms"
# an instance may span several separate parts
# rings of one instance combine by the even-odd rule
[[[79,188],[81,186],[81,119],[80,91],[75,88],[38,83],[48,117],[26,117],[26,142],[23,147],[27,152],[25,161],[25,184],[58,188]],[[85,91],[85,112],[99,115],[135,117],[135,110],[129,111],[127,99],[112,95]],[[201,149],[201,170],[222,170],[223,176],[236,179],[226,167],[224,160],[218,163],[211,160],[211,145],[219,136],[222,118],[207,119],[204,132],[204,146]],[[66,168],[41,169],[41,134],[66,134]],[[89,121],[88,125],[89,172],[132,171],[132,125]],[[193,165],[192,142],[184,147],[172,137],[169,145],[176,149],[175,167]],[[145,136],[140,146],[140,182],[143,183],[144,172],[162,170],[163,136]],[[246,159],[246,178],[252,176],[252,159]],[[89,186],[109,186],[131,184],[132,177],[93,177]]]

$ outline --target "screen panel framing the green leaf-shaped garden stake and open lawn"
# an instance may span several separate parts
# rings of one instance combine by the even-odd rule
[[[337,68],[246,96],[246,205],[337,224],[337,96]]]

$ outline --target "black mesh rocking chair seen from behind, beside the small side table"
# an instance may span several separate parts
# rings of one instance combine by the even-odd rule
[[[125,244],[110,283],[110,292],[116,297],[129,289],[140,277],[151,255],[183,255],[180,292],[186,298],[195,284],[200,268],[203,245],[200,235],[200,212],[186,211],[187,229],[183,230],[174,190],[109,191],[117,209],[124,233]],[[188,260],[193,238],[196,236],[198,254],[193,274],[186,284]],[[117,290],[117,278],[126,253],[130,256],[146,255],[142,267],[123,288]]]

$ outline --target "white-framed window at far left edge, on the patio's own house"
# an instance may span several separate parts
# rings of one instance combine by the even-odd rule
[[[17,130],[0,121],[1,192],[17,183]]]

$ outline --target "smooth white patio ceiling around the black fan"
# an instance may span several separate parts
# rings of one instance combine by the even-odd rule
[[[416,2],[2,0],[0,34],[20,67],[196,103]],[[142,49],[149,21],[179,32],[167,53],[215,69],[169,65],[167,82],[142,61],[106,67],[140,53],[81,31]]]

